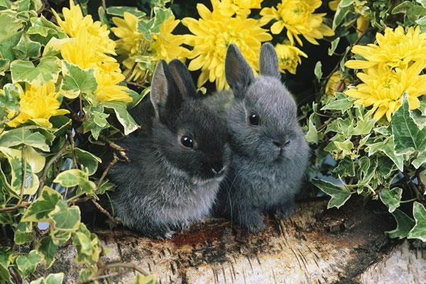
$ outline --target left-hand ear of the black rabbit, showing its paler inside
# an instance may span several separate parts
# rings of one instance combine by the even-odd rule
[[[182,95],[176,87],[175,80],[164,60],[158,62],[155,67],[151,82],[151,102],[155,110],[155,116],[160,117],[173,109],[180,109]]]

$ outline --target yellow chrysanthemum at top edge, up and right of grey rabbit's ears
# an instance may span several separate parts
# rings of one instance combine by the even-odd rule
[[[326,13],[314,13],[321,6],[320,0],[282,0],[276,7],[263,8],[261,11],[261,23],[265,25],[271,20],[276,20],[271,26],[271,33],[278,34],[287,29],[287,37],[290,43],[302,45],[299,35],[303,35],[307,41],[315,45],[317,39],[334,35],[327,25],[322,23]]]

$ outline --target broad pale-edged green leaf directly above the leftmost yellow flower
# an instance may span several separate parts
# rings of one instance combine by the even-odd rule
[[[31,61],[15,60],[11,62],[13,83],[28,82],[40,86],[50,81],[56,82],[59,72],[60,60],[54,56],[41,58],[37,67]]]

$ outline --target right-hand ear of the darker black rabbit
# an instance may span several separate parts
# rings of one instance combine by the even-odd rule
[[[188,71],[185,64],[183,64],[178,59],[173,59],[170,61],[169,67],[176,86],[178,87],[180,94],[182,94],[183,99],[187,97],[196,98],[197,90],[195,89],[195,84],[192,81],[190,72]]]

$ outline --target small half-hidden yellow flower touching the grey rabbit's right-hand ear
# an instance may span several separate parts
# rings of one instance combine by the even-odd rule
[[[306,53],[293,45],[278,44],[275,45],[275,51],[278,55],[278,67],[280,72],[288,70],[291,74],[296,74],[297,65],[302,63],[300,56],[307,58]]]

